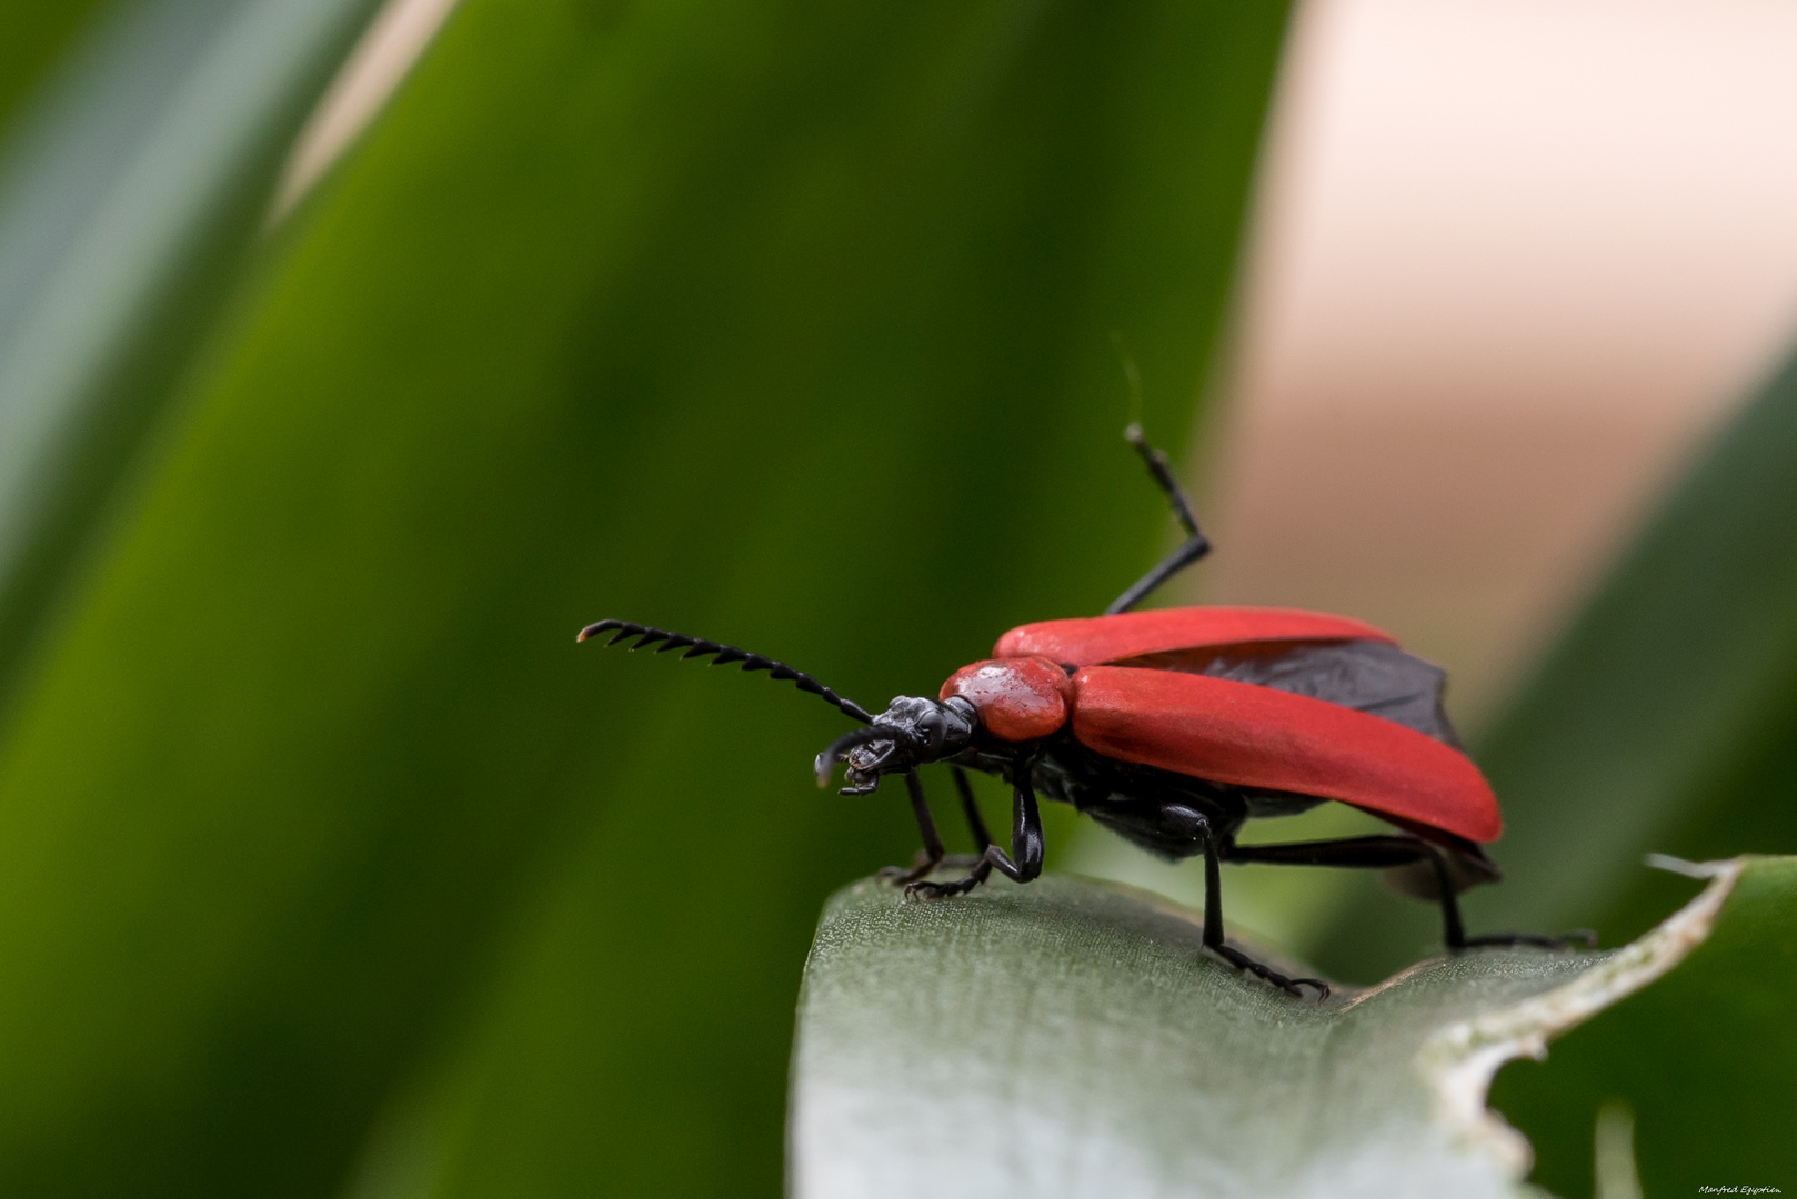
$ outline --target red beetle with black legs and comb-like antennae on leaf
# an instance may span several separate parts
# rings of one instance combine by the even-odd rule
[[[816,694],[864,728],[843,733],[814,760],[818,786],[845,764],[843,795],[868,795],[902,775],[924,850],[881,877],[907,899],[963,895],[994,870],[1017,883],[1042,872],[1039,796],[1071,804],[1152,854],[1204,857],[1204,946],[1294,996],[1319,978],[1290,978],[1227,944],[1222,863],[1346,866],[1385,872],[1387,883],[1441,906],[1454,953],[1472,946],[1594,944],[1590,933],[1468,937],[1457,895],[1499,881],[1483,845],[1502,832],[1497,798],[1466,757],[1441,706],[1447,674],[1360,620],[1288,608],[1168,608],[1130,611],[1204,557],[1211,543],[1191,516],[1166,455],[1141,426],[1125,439],[1166,494],[1186,539],[1100,617],[1046,620],[1005,633],[992,658],[961,667],[936,697],[898,696],[873,715],[803,671],[733,645],[629,620],[598,620],[579,640],[681,658],[740,662]],[[633,640],[634,638],[634,640]],[[978,856],[969,872],[936,883],[945,861],[918,768],[951,766]],[[967,771],[1012,789],[1010,852],[987,830]],[[1242,845],[1249,820],[1348,804],[1394,830],[1324,841]]]

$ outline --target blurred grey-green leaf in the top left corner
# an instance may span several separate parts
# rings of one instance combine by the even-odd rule
[[[31,43],[5,54],[38,61],[68,38],[72,18],[47,16],[61,5],[36,7],[0,25]],[[0,160],[0,703],[253,255],[273,173],[372,7],[111,5],[59,47],[16,122]]]

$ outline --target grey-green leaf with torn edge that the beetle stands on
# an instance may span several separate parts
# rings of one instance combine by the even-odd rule
[[[1639,1055],[1675,1028],[1750,1014],[1736,1035],[1790,1043],[1772,1023],[1793,981],[1775,947],[1797,935],[1797,861],[1714,874],[1619,951],[1472,951],[1321,1003],[1235,973],[1200,947],[1197,913],[1116,884],[1049,875],[951,902],[855,884],[830,901],[805,967],[792,1194],[943,1179],[997,1199],[1518,1194],[1527,1145],[1484,1093],[1547,1037],[1607,1012],[1590,1032],[1632,1021]],[[1671,1014],[1655,999],[1673,987],[1705,1007]],[[1713,1082],[1739,1057],[1702,1066],[1693,1046],[1677,1061]],[[1718,1124],[1763,1106],[1704,1095],[1720,1098]],[[1648,1194],[1680,1194],[1642,1165]]]

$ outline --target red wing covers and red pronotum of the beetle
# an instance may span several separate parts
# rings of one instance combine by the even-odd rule
[[[961,694],[994,735],[1031,741],[1060,728],[1048,724],[1057,710],[1048,696],[1066,694],[1040,663],[1082,667],[1071,678],[1067,712],[1075,739],[1089,750],[1209,782],[1339,800],[1470,841],[1495,841],[1504,823],[1479,768],[1412,728],[1270,687],[1103,665],[1175,651],[1330,640],[1396,644],[1359,620],[1283,608],[1172,608],[1044,620],[1001,636],[994,647],[999,662],[963,667],[943,685],[942,697]],[[970,678],[990,681],[976,692],[967,688]],[[983,703],[981,696],[990,699]],[[987,703],[994,705],[990,717]],[[1008,735],[1012,728],[1021,735]]]

